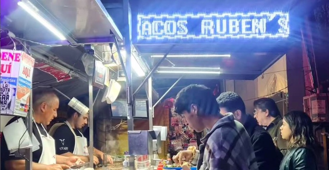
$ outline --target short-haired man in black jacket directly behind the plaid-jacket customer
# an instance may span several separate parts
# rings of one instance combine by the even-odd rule
[[[278,157],[271,136],[257,124],[257,121],[246,114],[242,98],[235,92],[223,92],[217,98],[220,113],[233,113],[235,119],[243,124],[253,145],[259,170],[278,170],[283,155]]]

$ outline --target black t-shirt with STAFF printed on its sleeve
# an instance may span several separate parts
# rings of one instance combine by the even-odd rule
[[[78,129],[73,129],[75,135],[81,136]],[[67,126],[67,124],[63,124],[60,127],[56,129],[54,132],[53,138],[55,139],[55,146],[56,146],[56,154],[62,155],[67,152],[73,153],[74,150],[74,144],[75,144],[75,138],[70,130],[70,128]],[[89,146],[89,140],[87,139],[87,143]]]

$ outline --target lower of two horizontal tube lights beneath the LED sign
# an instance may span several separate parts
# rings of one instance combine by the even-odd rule
[[[170,74],[220,74],[219,67],[158,67],[157,73]]]

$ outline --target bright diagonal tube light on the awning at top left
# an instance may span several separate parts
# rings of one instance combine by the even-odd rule
[[[22,7],[26,12],[28,12],[31,16],[33,16],[37,21],[39,21],[44,27],[49,29],[55,36],[57,36],[61,41],[66,40],[65,36],[54,26],[52,26],[46,19],[38,14],[34,9],[32,9],[25,2],[19,1],[17,5]]]

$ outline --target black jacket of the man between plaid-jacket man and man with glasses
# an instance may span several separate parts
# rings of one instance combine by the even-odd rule
[[[253,145],[259,170],[278,170],[283,155],[276,151],[271,136],[250,115],[243,124]],[[278,153],[280,155],[278,155]]]

